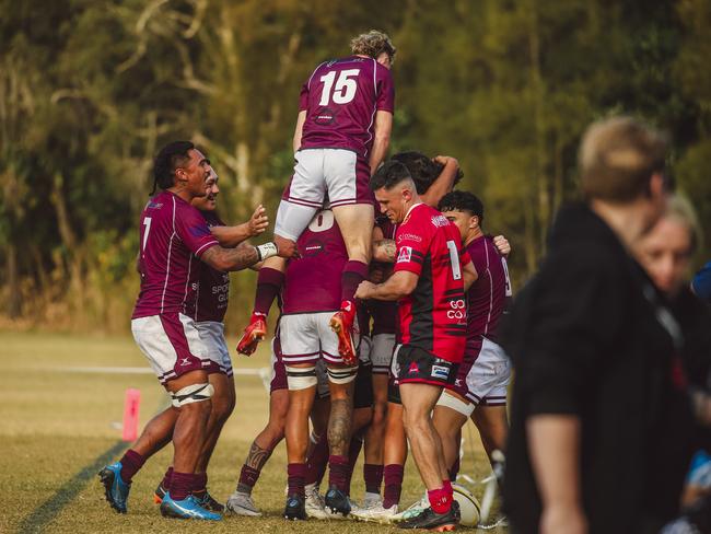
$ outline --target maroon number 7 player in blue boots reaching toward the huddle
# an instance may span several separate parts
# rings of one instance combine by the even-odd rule
[[[154,191],[160,187],[162,193],[148,202],[141,214],[141,292],[131,330],[159,381],[171,394],[173,407],[154,417],[121,460],[100,473],[106,499],[120,513],[127,511],[132,476],[147,457],[172,438],[174,471],[161,513],[221,519],[191,495],[202,489],[197,468],[206,446],[214,392],[208,379],[209,349],[195,320],[186,314],[196,298],[199,262],[221,271],[240,270],[277,254],[294,253],[293,246],[278,249],[273,243],[222,247],[200,212],[190,205],[194,198],[207,195],[206,181],[211,172],[210,162],[188,141],[165,146],[155,159]]]

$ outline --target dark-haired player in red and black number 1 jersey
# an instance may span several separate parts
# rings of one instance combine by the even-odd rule
[[[399,223],[397,260],[387,281],[363,281],[356,297],[398,300],[401,345],[394,365],[405,428],[431,504],[400,526],[451,529],[458,522],[458,508],[452,504],[442,443],[430,414],[442,388],[454,381],[464,355],[464,292],[476,271],[456,228],[421,201],[405,165],[386,162],[371,178],[371,188],[381,210]]]

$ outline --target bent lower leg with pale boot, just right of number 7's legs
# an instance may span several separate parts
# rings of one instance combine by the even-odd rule
[[[252,490],[275,448],[284,438],[289,391],[277,390],[269,396],[269,421],[257,434],[242,466],[237,487],[228,500],[228,509],[241,515],[261,515],[252,500]]]

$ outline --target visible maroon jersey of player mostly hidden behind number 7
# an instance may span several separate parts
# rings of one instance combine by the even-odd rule
[[[200,211],[209,228],[224,227],[224,222],[213,211]],[[195,311],[188,307],[188,315],[195,321],[217,321],[222,323],[228,311],[230,298],[230,275],[200,263]]]

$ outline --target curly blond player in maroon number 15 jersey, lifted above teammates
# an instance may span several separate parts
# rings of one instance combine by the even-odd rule
[[[338,351],[348,365],[358,355],[353,343],[353,293],[368,276],[374,223],[370,176],[383,161],[393,127],[394,95],[389,68],[395,47],[387,35],[371,31],[351,42],[352,55],[324,61],[301,90],[294,131],[294,174],[279,205],[275,242],[293,246],[320,209],[326,195],[342,232],[348,262],[341,272],[341,304],[330,320]],[[259,270],[259,287],[281,285],[284,263],[272,259]],[[255,313],[237,348],[248,352],[264,338],[266,322]]]

